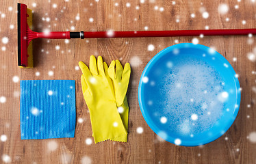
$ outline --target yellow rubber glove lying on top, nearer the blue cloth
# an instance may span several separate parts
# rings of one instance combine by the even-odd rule
[[[107,64],[103,63],[100,56],[97,61],[94,56],[90,56],[90,70],[82,61],[79,61],[79,67],[83,72],[81,85],[90,111],[95,143],[127,136],[127,130],[116,107],[116,98],[112,80],[107,73]]]

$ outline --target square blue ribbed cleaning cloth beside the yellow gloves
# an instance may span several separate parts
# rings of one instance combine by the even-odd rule
[[[21,81],[21,139],[75,135],[75,81]]]

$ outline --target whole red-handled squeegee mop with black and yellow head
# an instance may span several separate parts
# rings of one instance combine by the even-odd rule
[[[256,34],[256,29],[196,29],[172,31],[32,31],[32,12],[27,5],[18,3],[18,66],[33,67],[32,40],[36,38],[71,39],[71,38],[144,38],[172,36],[231,36]]]

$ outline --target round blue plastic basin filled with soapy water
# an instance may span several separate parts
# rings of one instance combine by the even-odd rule
[[[146,123],[162,139],[181,146],[200,146],[222,136],[238,115],[240,97],[238,75],[229,61],[192,43],[157,53],[138,87]]]

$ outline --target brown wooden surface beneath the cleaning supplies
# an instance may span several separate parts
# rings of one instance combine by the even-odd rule
[[[256,2],[252,0],[19,2],[34,10],[35,31],[235,29],[256,25]],[[68,43],[65,40],[38,39],[34,41],[35,68],[21,69],[17,66],[16,55],[16,3],[2,0],[0,6],[0,163],[256,163],[256,143],[253,143],[256,140],[253,72],[256,68],[255,62],[247,57],[248,53],[256,53],[255,36],[76,39]],[[221,14],[225,12],[223,10],[218,11],[221,3],[229,6],[226,14]],[[203,18],[203,12],[209,13],[209,17]],[[8,40],[3,39],[5,37]],[[199,44],[213,47],[231,63],[239,74],[242,101],[238,117],[225,135],[205,146],[182,147],[159,140],[146,124],[138,105],[138,83],[147,62],[157,52],[173,44],[192,42],[193,38],[199,39]],[[148,51],[149,44],[155,46],[153,51]],[[55,46],[60,46],[60,49],[55,49]],[[81,92],[81,71],[77,66],[80,60],[88,64],[90,55],[103,56],[107,64],[113,59],[120,59],[122,64],[131,63],[127,143],[86,144],[86,139],[93,139],[92,129]],[[49,76],[49,71],[53,71],[53,76]],[[77,120],[81,118],[84,122],[77,121],[75,138],[21,140],[20,85],[17,79],[76,81]],[[137,133],[139,127],[143,128],[141,134]]]

